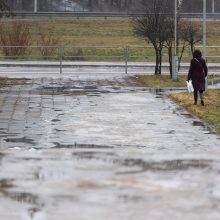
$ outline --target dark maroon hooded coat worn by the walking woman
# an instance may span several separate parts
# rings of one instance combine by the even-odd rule
[[[208,74],[208,68],[202,57],[194,57],[191,60],[188,81],[191,79],[195,90],[205,90],[205,77]]]

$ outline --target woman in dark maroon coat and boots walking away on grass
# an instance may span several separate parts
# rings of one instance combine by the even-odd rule
[[[205,60],[202,58],[200,50],[193,52],[193,59],[190,63],[188,81],[191,79],[194,88],[194,105],[197,105],[198,92],[201,105],[204,105],[205,77],[208,75],[208,68]]]

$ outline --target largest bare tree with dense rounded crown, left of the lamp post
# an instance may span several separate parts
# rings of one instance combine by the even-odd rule
[[[134,33],[154,47],[156,54],[155,75],[161,74],[162,50],[171,37],[172,15],[169,0],[149,0],[145,4],[145,15],[133,20]]]

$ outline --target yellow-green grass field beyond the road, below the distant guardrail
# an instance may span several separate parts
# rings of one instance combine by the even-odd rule
[[[120,61],[122,58],[114,57],[124,56],[124,49],[120,47],[129,46],[129,61],[155,62],[155,51],[153,48],[143,48],[143,46],[152,46],[144,38],[134,35],[131,18],[71,18],[71,17],[36,17],[36,18],[5,18],[3,23],[10,25],[12,21],[22,21],[30,26],[30,45],[39,45],[40,33],[60,38],[57,46],[66,46],[64,48],[64,58],[75,60],[74,55],[80,54],[82,60],[88,61]],[[201,22],[195,21],[195,26],[201,27]],[[207,41],[208,45],[220,45],[220,22],[207,21]],[[181,43],[181,42],[180,42]],[[77,48],[71,48],[76,46]],[[85,48],[89,46],[103,46],[106,48]],[[112,47],[115,48],[107,48]],[[138,46],[138,47],[137,47]],[[201,45],[200,45],[201,46]],[[219,47],[207,47],[208,61],[219,63]],[[56,51],[51,57],[55,60],[59,56]],[[72,56],[72,57],[71,57]],[[91,57],[93,56],[93,57]],[[95,58],[98,56],[99,58]],[[105,58],[105,56],[113,56]],[[141,56],[141,57],[140,57]],[[143,57],[142,57],[143,56]],[[185,50],[182,62],[190,62],[190,51]],[[19,57],[19,59],[22,59]],[[40,60],[42,56],[37,49],[29,49],[24,59]],[[49,58],[48,58],[49,59]],[[80,57],[77,57],[80,59]],[[163,49],[163,61],[168,62],[168,52]]]

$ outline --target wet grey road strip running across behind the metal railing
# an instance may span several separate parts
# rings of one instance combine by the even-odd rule
[[[220,75],[220,64],[208,64],[209,73]],[[147,74],[154,73],[154,62],[86,62],[86,61],[0,61],[0,77],[36,78],[59,77],[60,74],[71,77],[73,74]],[[182,63],[179,74],[187,74],[189,63]],[[163,63],[162,73],[169,74],[169,64]]]

